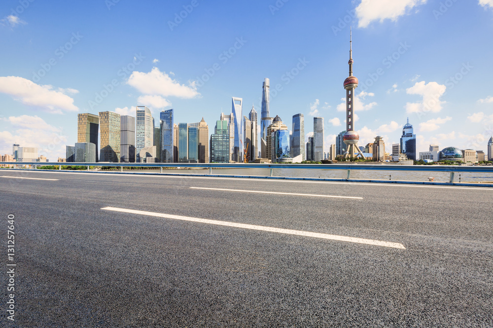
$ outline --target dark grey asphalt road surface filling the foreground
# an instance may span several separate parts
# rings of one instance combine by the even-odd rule
[[[493,188],[0,170],[1,258],[14,214],[17,265],[11,322],[2,264],[0,326],[493,327],[492,201]]]

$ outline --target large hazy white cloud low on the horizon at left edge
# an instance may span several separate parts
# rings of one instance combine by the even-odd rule
[[[0,153],[11,154],[12,144],[21,147],[37,147],[38,155],[45,155],[50,161],[65,158],[67,136],[61,128],[46,123],[37,116],[22,115],[4,118],[11,131],[0,131]]]

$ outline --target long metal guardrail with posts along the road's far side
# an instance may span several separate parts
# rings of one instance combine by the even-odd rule
[[[470,166],[470,165],[395,165],[395,164],[256,164],[256,163],[51,163],[51,162],[1,162],[1,165],[34,165],[37,166],[112,166],[119,167],[123,171],[124,167],[155,167],[161,168],[161,173],[165,167],[186,167],[186,168],[208,168],[209,173],[212,169],[270,169],[272,177],[274,169],[322,169],[322,170],[346,170],[348,178],[351,179],[352,170],[375,170],[375,171],[422,171],[422,172],[449,172],[450,182],[454,182],[455,173],[477,172],[493,173],[493,166]]]

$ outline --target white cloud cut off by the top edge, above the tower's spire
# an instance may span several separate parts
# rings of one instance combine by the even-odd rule
[[[359,19],[358,27],[366,28],[373,21],[385,19],[396,21],[400,16],[408,14],[411,9],[427,0],[362,0],[356,7]]]

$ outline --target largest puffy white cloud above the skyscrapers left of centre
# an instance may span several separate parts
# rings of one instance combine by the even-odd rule
[[[200,96],[195,82],[189,83],[188,86],[179,84],[157,67],[152,68],[149,73],[132,72],[127,84],[147,95],[173,96],[184,99]]]

